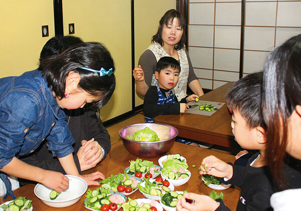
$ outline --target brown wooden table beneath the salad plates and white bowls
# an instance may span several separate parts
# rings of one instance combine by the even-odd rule
[[[189,192],[201,193],[209,195],[212,191],[211,188],[207,187],[204,182],[201,180],[201,176],[198,173],[198,167],[200,166],[203,158],[209,155],[215,155],[216,157],[224,160],[225,162],[234,162],[235,157],[233,155],[207,150],[200,147],[195,147],[191,145],[186,145],[182,143],[175,142],[173,148],[168,154],[176,154],[180,153],[187,159],[187,163],[189,164],[189,170],[192,173],[190,180],[181,186],[175,187],[175,190],[187,190]],[[94,171],[102,172],[106,177],[111,174],[115,175],[122,171],[122,168],[126,168],[129,166],[130,160],[135,160],[137,157],[130,154],[122,144],[122,141],[112,144],[111,151],[107,155],[106,159],[99,163],[94,169],[90,169],[85,173],[92,173]],[[196,159],[197,158],[197,159]],[[150,161],[154,161],[154,164],[158,164],[159,157],[156,158],[144,158]],[[196,168],[192,168],[191,165],[197,165]],[[27,184],[17,190],[14,191],[16,197],[19,196],[27,196],[28,199],[31,199],[33,202],[34,210],[66,210],[66,211],[75,211],[75,210],[87,210],[84,208],[83,201],[85,196],[81,197],[81,199],[73,204],[72,206],[63,207],[63,208],[54,208],[47,206],[44,204],[39,198],[37,198],[34,194],[34,184]],[[97,186],[89,186],[90,189],[96,189]],[[232,185],[230,188],[226,190],[216,190],[218,193],[224,193],[224,202],[231,209],[236,210],[236,205],[240,195],[240,188]],[[130,198],[144,198],[144,196],[137,190],[133,194],[129,195]],[[0,199],[2,200],[2,198]],[[12,200],[11,196],[8,197],[8,200]],[[122,210],[122,209],[121,209]]]

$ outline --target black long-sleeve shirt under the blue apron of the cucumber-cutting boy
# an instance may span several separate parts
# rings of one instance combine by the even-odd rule
[[[161,92],[167,96],[169,89],[160,88]],[[159,115],[169,115],[169,114],[180,114],[180,103],[186,103],[186,98],[183,98],[180,102],[176,95],[175,103],[167,104],[157,104],[159,99],[159,94],[157,86],[150,86],[144,96],[143,102],[143,112],[149,118],[155,118]]]

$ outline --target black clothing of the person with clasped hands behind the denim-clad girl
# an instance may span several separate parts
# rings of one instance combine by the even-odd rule
[[[81,147],[81,141],[94,138],[95,141],[104,149],[105,156],[111,149],[110,135],[103,126],[101,120],[98,120],[95,111],[88,111],[87,109],[78,109],[66,111],[66,121],[68,122],[69,130],[75,140],[73,145],[73,158],[78,172],[80,173],[80,165],[77,151]],[[53,157],[52,153],[48,151],[47,141],[44,141],[37,150],[32,154],[22,157],[21,160],[46,170],[58,171],[65,174],[57,157]],[[104,156],[104,157],[105,157]],[[19,179],[20,182],[28,182],[28,180]]]

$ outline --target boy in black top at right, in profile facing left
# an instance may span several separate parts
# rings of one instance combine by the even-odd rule
[[[239,166],[214,157],[203,159],[200,174],[221,178],[222,183],[241,188],[237,210],[271,210],[269,198],[276,190],[273,176],[266,162],[266,126],[261,113],[262,72],[253,73],[236,81],[230,88],[226,102],[233,105],[232,132],[237,143],[248,150],[258,150],[246,166]],[[299,183],[298,171],[285,166],[290,184]],[[194,204],[185,198],[195,200]],[[177,204],[178,210],[229,210],[221,199],[194,193],[185,194]]]

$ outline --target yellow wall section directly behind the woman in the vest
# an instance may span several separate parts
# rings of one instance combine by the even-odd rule
[[[159,21],[166,11],[176,9],[176,0],[135,0],[135,65],[143,51],[150,45],[152,36],[156,34]],[[143,97],[135,95],[135,106],[143,103]]]

